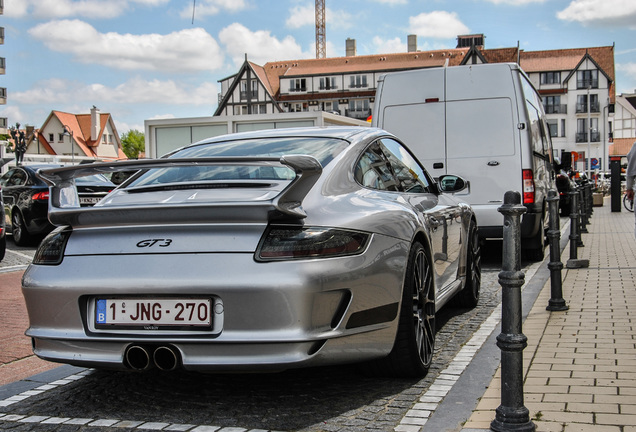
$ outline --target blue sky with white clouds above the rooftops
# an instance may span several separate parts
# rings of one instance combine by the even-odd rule
[[[146,119],[214,113],[218,81],[257,64],[315,58],[313,0],[4,0],[8,101],[0,117],[40,127],[52,110]],[[194,20],[193,20],[193,6]],[[526,51],[615,44],[617,93],[636,92],[635,0],[326,0],[327,56],[454,48]]]

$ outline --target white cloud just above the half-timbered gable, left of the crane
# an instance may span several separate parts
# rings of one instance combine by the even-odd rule
[[[292,36],[279,40],[267,30],[251,31],[239,23],[230,24],[221,30],[219,41],[225,45],[235,66],[243,64],[245,54],[248,60],[260,65],[276,60],[311,57],[311,54],[303,53]]]

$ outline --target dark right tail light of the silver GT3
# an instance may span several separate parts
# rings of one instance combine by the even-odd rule
[[[258,261],[329,258],[364,251],[370,234],[336,228],[270,225],[256,251]]]

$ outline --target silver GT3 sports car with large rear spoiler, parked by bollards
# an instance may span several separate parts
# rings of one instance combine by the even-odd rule
[[[92,208],[75,178],[139,170]],[[216,137],[40,171],[51,222],[23,277],[39,357],[111,369],[363,363],[425,374],[435,313],[479,299],[460,177],[373,128]],[[442,192],[443,189],[446,192]]]

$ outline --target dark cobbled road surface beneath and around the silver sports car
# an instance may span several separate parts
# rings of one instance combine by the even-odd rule
[[[0,272],[23,269],[34,252],[8,243]],[[0,389],[0,397],[11,386],[22,395],[36,389],[0,401],[0,430],[392,431],[499,304],[500,267],[500,244],[489,243],[480,304],[438,314],[433,366],[423,379],[369,377],[355,365],[224,375],[63,366]]]

